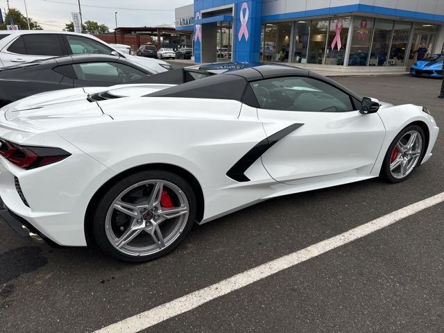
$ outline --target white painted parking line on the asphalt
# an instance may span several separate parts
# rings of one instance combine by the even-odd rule
[[[379,217],[366,224],[359,225],[359,227],[338,234],[330,239],[325,239],[325,241],[320,241],[317,244],[311,245],[302,250],[298,250],[284,257],[274,259],[271,262],[267,262],[255,268],[251,268],[248,271],[239,273],[232,276],[226,280],[212,284],[209,287],[194,291],[188,295],[177,298],[176,300],[171,300],[171,302],[164,303],[144,311],[141,314],[124,319],[118,323],[114,323],[107,327],[103,327],[101,330],[97,330],[95,333],[117,333],[117,332],[139,332],[148,327],[166,321],[167,319],[183,314],[187,311],[195,309],[200,305],[214,300],[215,298],[221,297],[240,289],[242,287],[248,286],[253,282],[257,282],[266,278],[270,275],[278,273],[286,268],[305,262],[308,259],[322,255],[327,251],[338,248],[345,244],[355,241],[361,237],[364,237],[372,232],[380,230],[387,227],[395,222],[398,222],[407,216],[425,210],[428,207],[432,207],[437,203],[442,203],[444,201],[444,192],[436,194],[425,200],[418,201],[407,207],[401,208],[395,212]]]

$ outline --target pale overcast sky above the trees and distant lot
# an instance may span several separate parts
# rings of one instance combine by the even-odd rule
[[[190,3],[193,0],[80,0],[83,21],[106,24],[110,31],[116,26],[114,12],[119,26],[172,25],[174,8]],[[25,15],[24,0],[9,0],[9,6]],[[6,0],[0,0],[0,7],[2,11],[8,8]],[[77,0],[26,0],[26,7],[29,17],[45,30],[62,30],[71,21],[71,12],[78,12]]]

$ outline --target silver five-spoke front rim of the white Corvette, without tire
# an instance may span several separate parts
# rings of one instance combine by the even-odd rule
[[[422,136],[416,130],[405,133],[390,157],[390,172],[394,178],[404,178],[416,167],[422,150]]]

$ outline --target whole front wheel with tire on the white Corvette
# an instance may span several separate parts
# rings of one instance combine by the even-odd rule
[[[406,180],[420,164],[424,149],[424,130],[417,125],[407,126],[388,147],[380,176],[388,182]]]

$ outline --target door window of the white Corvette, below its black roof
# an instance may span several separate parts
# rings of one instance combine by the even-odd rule
[[[315,78],[270,78],[250,85],[263,109],[307,112],[356,110],[350,95]]]

